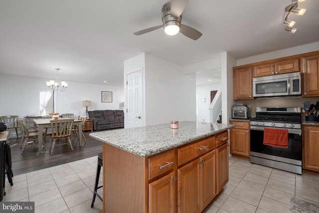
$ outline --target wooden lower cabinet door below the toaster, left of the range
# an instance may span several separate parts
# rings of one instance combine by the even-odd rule
[[[245,129],[230,129],[230,153],[249,157],[250,132]]]

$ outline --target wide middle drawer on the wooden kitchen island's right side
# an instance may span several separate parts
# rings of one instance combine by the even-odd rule
[[[194,144],[179,148],[178,153],[178,166],[204,154],[212,149],[215,149],[216,142],[215,136],[205,138]]]

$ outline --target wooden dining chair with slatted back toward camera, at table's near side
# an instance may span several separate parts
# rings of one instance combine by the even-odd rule
[[[73,151],[71,143],[72,125],[74,119],[58,119],[50,120],[51,123],[51,139],[50,139],[50,154],[53,154],[55,146],[68,145]],[[60,139],[60,144],[56,144],[56,139]],[[65,140],[61,140],[65,139]]]

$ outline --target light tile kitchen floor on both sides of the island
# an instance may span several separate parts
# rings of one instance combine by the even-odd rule
[[[91,208],[97,157],[6,180],[3,201],[34,201],[36,213],[101,213]],[[100,175],[102,184],[102,174]],[[102,194],[102,188],[99,189]],[[229,182],[204,213],[319,213],[319,177],[229,159]]]

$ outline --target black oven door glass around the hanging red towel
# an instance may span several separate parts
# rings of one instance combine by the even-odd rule
[[[277,148],[263,144],[264,131],[250,130],[250,151],[294,160],[302,160],[302,136],[288,134],[288,148]]]

